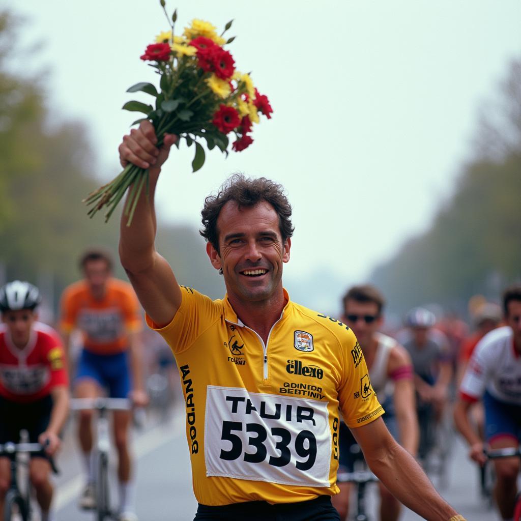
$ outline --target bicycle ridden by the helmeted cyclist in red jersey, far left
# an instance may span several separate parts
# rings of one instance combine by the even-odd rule
[[[4,500],[4,516],[3,521],[11,521],[18,514],[22,521],[30,521],[31,519],[31,497],[32,487],[29,479],[29,460],[25,461],[19,457],[21,454],[40,453],[45,449],[45,445],[40,443],[28,443],[23,441],[26,436],[22,435],[22,442],[7,442],[0,444],[0,456],[7,456],[10,460],[11,479],[9,489]],[[52,458],[48,458],[51,463],[51,469],[54,474],[58,474],[58,469]],[[20,518],[18,517],[18,519]]]

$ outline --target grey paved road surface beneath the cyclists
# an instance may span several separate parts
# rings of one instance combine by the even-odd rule
[[[144,432],[134,434],[134,450],[138,458],[137,513],[140,521],[193,519],[196,501],[192,493],[182,404],[178,404],[176,410],[177,414],[168,423],[149,426]],[[453,451],[448,484],[440,493],[468,521],[499,521],[499,517],[488,510],[478,497],[476,469],[468,461],[463,444],[454,436],[451,445]],[[57,521],[92,521],[92,513],[80,512],[76,506],[83,481],[72,429],[67,432],[59,466],[62,472],[56,480]],[[117,497],[115,492],[114,499]],[[375,510],[373,491],[369,494],[369,513],[374,514]],[[401,521],[417,519],[420,517],[411,511],[405,511]]]

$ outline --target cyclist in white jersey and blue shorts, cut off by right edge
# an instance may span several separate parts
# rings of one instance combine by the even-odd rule
[[[485,444],[469,420],[470,407],[478,400],[485,406],[485,437],[491,449],[517,447],[521,442],[521,285],[503,294],[506,326],[483,337],[468,363],[454,408],[457,428],[470,445],[470,457],[483,465]],[[519,474],[518,458],[494,460],[494,488],[503,519],[514,513]]]

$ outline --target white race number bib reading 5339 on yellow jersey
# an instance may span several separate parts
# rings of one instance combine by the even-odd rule
[[[207,386],[207,476],[329,487],[327,403]]]

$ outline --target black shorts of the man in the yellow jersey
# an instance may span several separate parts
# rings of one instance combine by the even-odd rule
[[[297,503],[247,501],[224,506],[199,504],[194,521],[340,521],[329,495]]]

